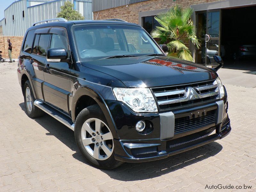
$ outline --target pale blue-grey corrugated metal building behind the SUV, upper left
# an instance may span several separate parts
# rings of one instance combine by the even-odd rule
[[[56,18],[57,13],[60,12],[60,6],[64,5],[66,1],[75,3],[76,10],[81,12],[85,20],[92,20],[92,0],[77,0],[76,2],[74,0],[19,0],[12,3],[4,11],[5,17],[0,21],[0,26],[3,27],[3,35],[24,36],[26,30],[33,23]],[[24,17],[22,11],[24,11]],[[12,20],[12,15],[14,15],[14,20]]]

